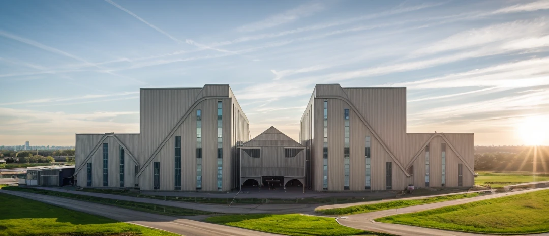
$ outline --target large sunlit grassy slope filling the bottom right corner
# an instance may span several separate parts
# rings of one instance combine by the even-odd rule
[[[492,234],[549,232],[549,190],[376,219],[379,222]]]

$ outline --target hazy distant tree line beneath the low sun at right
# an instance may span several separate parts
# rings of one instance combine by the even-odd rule
[[[549,147],[516,146],[507,150],[475,154],[475,170],[549,172]]]

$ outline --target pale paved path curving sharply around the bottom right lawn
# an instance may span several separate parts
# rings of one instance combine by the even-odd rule
[[[385,216],[392,216],[392,215],[397,215],[397,214],[402,214],[402,213],[425,211],[425,210],[430,210],[430,209],[436,209],[436,208],[439,208],[439,207],[460,205],[460,204],[472,203],[474,201],[501,198],[503,196],[511,196],[511,195],[516,195],[516,194],[523,194],[523,193],[529,193],[529,192],[535,192],[535,191],[547,190],[547,189],[549,189],[549,188],[536,188],[536,189],[520,190],[520,191],[510,192],[510,193],[490,194],[490,195],[485,195],[485,196],[477,196],[475,198],[465,198],[465,199],[457,199],[457,200],[451,200],[451,201],[443,201],[443,202],[440,202],[440,203],[432,203],[432,204],[425,204],[425,205],[418,205],[418,206],[409,206],[409,207],[403,207],[403,208],[399,208],[399,209],[391,209],[391,210],[384,210],[384,211],[372,211],[372,212],[368,212],[368,213],[362,213],[362,214],[357,214],[357,215],[350,215],[350,216],[340,217],[337,221],[338,221],[339,224],[341,224],[343,226],[346,226],[346,227],[362,229],[362,230],[365,230],[365,231],[374,231],[374,232],[383,232],[383,233],[389,233],[389,234],[396,234],[396,235],[431,235],[431,236],[481,235],[481,234],[472,234],[472,233],[442,231],[442,230],[439,230],[439,229],[429,229],[429,228],[422,228],[422,227],[416,227],[416,226],[405,226],[405,225],[402,225],[402,224],[381,223],[381,222],[374,222],[373,220],[376,219],[376,218],[385,217]],[[535,234],[535,235],[549,235],[549,233]]]

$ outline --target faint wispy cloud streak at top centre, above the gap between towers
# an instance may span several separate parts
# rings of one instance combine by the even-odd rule
[[[264,29],[268,29],[278,25],[287,24],[287,23],[296,21],[300,18],[304,18],[306,16],[310,16],[317,12],[321,12],[322,10],[324,10],[324,4],[322,4],[321,2],[310,2],[310,3],[299,5],[296,8],[289,9],[283,13],[269,16],[264,20],[240,26],[237,28],[237,31],[249,32],[249,31],[264,30]]]

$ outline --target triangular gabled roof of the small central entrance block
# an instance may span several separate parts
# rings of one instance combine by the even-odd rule
[[[304,147],[286,134],[278,131],[271,126],[263,133],[259,134],[250,141],[244,143],[242,147]]]

